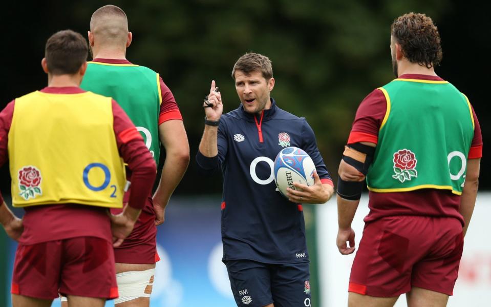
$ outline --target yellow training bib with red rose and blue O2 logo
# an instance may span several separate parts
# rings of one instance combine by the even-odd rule
[[[14,207],[122,208],[126,180],[110,97],[32,92],[15,99],[8,137]]]

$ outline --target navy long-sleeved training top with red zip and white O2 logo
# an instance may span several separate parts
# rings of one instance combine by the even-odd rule
[[[298,147],[310,155],[321,179],[331,178],[306,119],[278,108],[274,99],[271,102],[262,121],[242,105],[223,114],[218,155],[208,158],[198,151],[196,156],[200,173],[222,168],[223,261],[309,261],[302,206],[276,191],[273,161],[284,147]]]

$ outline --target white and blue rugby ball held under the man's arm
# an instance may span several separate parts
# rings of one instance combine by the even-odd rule
[[[302,149],[287,147],[274,159],[274,183],[280,193],[286,196],[286,189],[296,190],[293,182],[314,185],[315,165],[312,158]]]

